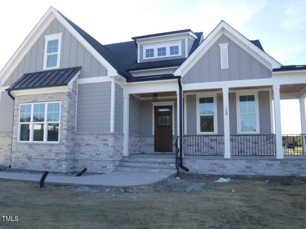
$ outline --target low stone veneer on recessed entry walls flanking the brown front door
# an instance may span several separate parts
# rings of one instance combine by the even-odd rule
[[[176,136],[173,136],[173,153],[175,153]],[[153,135],[129,135],[129,155],[154,153],[154,136]]]

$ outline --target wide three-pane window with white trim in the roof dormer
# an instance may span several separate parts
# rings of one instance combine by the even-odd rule
[[[182,55],[182,40],[145,44],[142,47],[144,60]]]

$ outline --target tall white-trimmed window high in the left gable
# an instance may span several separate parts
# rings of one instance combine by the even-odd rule
[[[45,36],[43,69],[59,68],[61,57],[62,33]]]

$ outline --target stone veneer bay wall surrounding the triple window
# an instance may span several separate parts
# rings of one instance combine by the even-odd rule
[[[74,133],[77,80],[72,92],[16,96],[13,117],[12,168],[70,172],[74,170]],[[19,143],[21,103],[61,101],[59,143]]]

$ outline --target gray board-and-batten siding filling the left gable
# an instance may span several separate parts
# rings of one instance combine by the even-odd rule
[[[24,73],[43,71],[44,36],[61,32],[63,34],[59,68],[82,66],[79,78],[107,75],[106,68],[57,19],[54,19],[13,70],[3,86],[10,86]]]

